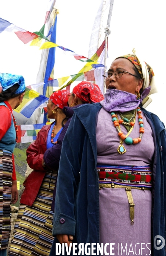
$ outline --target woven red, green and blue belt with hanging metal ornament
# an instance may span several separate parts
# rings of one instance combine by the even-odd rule
[[[134,200],[131,189],[150,190],[152,171],[149,166],[97,166],[99,189],[124,188],[129,201],[131,224],[134,224]]]

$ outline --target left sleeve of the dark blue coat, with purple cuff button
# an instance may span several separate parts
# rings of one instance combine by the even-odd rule
[[[75,235],[75,195],[79,185],[85,129],[76,114],[68,127],[62,143],[59,163],[53,236]]]

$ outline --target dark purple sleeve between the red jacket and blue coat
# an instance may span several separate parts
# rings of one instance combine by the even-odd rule
[[[46,166],[49,169],[52,169],[52,170],[58,170],[59,169],[59,160],[60,160],[60,155],[61,155],[62,142],[63,142],[63,139],[65,137],[66,131],[68,129],[70,120],[71,119],[69,119],[68,122],[65,123],[62,132],[59,134],[59,137],[58,137],[58,140],[57,140],[58,143],[53,145],[52,148],[48,148],[45,151],[45,154],[44,154],[43,158],[44,158],[44,162],[45,162]]]

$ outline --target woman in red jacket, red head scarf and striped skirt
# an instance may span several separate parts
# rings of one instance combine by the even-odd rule
[[[67,106],[68,90],[59,90],[47,102],[48,118],[55,119],[44,125],[37,139],[27,149],[27,163],[34,171],[25,179],[25,190],[14,229],[9,255],[47,256],[53,242],[51,203],[58,171],[60,154],[56,155],[57,168],[51,171],[43,165],[43,155],[48,148],[64,137],[68,125],[62,109]]]

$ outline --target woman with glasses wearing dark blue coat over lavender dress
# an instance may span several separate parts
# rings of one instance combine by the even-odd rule
[[[166,131],[141,107],[156,92],[153,76],[135,55],[118,57],[104,74],[104,100],[74,110],[62,145],[53,236],[78,243],[77,253],[80,243],[90,243],[89,255],[98,255],[100,243],[102,255],[165,256]]]

